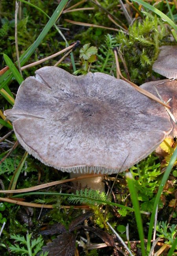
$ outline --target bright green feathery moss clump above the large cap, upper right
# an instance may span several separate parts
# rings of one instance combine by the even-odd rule
[[[168,35],[165,26],[151,15],[130,26],[129,35],[123,32],[116,35],[132,82],[140,85],[151,76],[159,46],[167,44]]]

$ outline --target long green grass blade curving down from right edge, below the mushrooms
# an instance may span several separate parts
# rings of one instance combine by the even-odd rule
[[[166,181],[168,180],[168,176],[170,175],[171,169],[173,168],[173,165],[177,159],[177,148],[173,152],[173,155],[171,156],[170,162],[167,166],[167,169],[163,175],[162,181],[160,182],[159,189],[155,198],[154,206],[153,206],[153,211],[151,215],[151,220],[149,223],[149,232],[148,232],[148,237],[147,237],[147,251],[149,252],[151,249],[151,237],[152,237],[152,232],[153,232],[153,224],[154,224],[154,219],[155,219],[155,212],[157,205],[159,204],[160,196],[162,194],[163,188],[166,184]]]

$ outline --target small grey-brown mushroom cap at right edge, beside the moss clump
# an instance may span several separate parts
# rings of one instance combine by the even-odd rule
[[[166,76],[167,78],[177,78],[177,45],[164,45],[160,47],[160,53],[154,62],[152,69]]]

